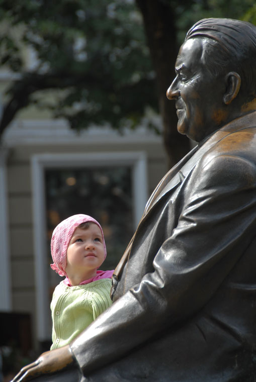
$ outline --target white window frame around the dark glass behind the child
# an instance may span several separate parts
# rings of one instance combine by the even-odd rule
[[[147,202],[147,167],[146,154],[132,152],[94,152],[94,153],[60,153],[36,154],[31,157],[33,222],[34,222],[34,256],[36,282],[37,338],[39,341],[49,339],[51,323],[49,322],[49,301],[47,296],[47,253],[46,248],[46,206],[44,171],[48,168],[79,168],[126,165],[132,168],[132,190],[134,201],[134,229],[144,212]]]

